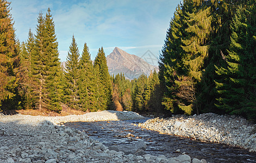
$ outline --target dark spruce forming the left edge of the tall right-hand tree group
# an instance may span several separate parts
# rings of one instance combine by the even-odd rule
[[[193,3],[184,1],[178,5],[167,30],[165,45],[162,49],[159,61],[159,89],[163,89],[163,105],[172,112],[180,112],[177,97],[178,85],[175,82],[179,76],[186,75],[184,65],[186,53],[182,48],[182,40],[186,37],[185,29],[188,28],[189,14],[194,10]],[[161,90],[159,90],[159,93]],[[161,93],[160,93],[161,94]]]

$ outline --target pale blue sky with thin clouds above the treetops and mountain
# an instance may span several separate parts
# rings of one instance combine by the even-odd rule
[[[42,11],[45,15],[49,7],[55,22],[61,61],[66,61],[72,35],[76,39],[80,53],[84,43],[87,43],[92,59],[102,46],[106,56],[115,47],[139,57],[148,50],[158,56],[164,45],[171,17],[179,2],[13,0],[11,14],[15,21],[17,38],[26,41],[29,28],[35,34],[39,12]]]

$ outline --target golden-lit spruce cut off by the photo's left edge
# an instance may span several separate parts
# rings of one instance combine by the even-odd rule
[[[5,109],[12,107],[18,93],[18,47],[9,6],[9,2],[0,1],[0,106]]]

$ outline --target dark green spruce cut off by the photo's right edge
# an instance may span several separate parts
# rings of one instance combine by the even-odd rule
[[[228,55],[222,54],[226,66],[216,66],[216,73],[221,78],[215,83],[218,108],[229,114],[255,118],[256,7],[255,1],[251,3],[253,5],[240,5],[236,10],[230,24]]]

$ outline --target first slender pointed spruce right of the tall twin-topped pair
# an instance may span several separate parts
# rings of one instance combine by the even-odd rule
[[[68,105],[73,109],[78,109],[79,106],[79,50],[77,47],[74,35],[72,36],[72,43],[67,53],[65,78],[68,87]]]

